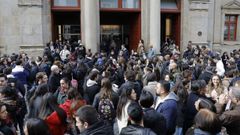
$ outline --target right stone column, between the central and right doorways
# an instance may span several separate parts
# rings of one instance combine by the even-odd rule
[[[150,45],[155,52],[160,51],[160,0],[150,0]]]

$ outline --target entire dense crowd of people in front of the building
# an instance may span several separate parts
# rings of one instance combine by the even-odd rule
[[[139,41],[93,54],[81,41],[0,59],[3,135],[238,135],[240,50]]]

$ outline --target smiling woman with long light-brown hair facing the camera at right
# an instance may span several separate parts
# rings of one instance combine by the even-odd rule
[[[228,90],[222,84],[222,80],[219,75],[215,74],[212,76],[209,81],[208,87],[208,96],[210,96],[214,101],[219,101],[219,96],[221,94],[227,94]]]

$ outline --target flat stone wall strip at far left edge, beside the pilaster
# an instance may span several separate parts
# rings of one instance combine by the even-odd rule
[[[18,0],[0,0],[0,46],[1,54],[19,50],[21,26]]]

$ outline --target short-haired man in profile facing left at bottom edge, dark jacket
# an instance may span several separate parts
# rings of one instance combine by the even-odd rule
[[[81,107],[75,119],[80,135],[113,135],[112,126],[99,120],[98,113],[92,106]]]

